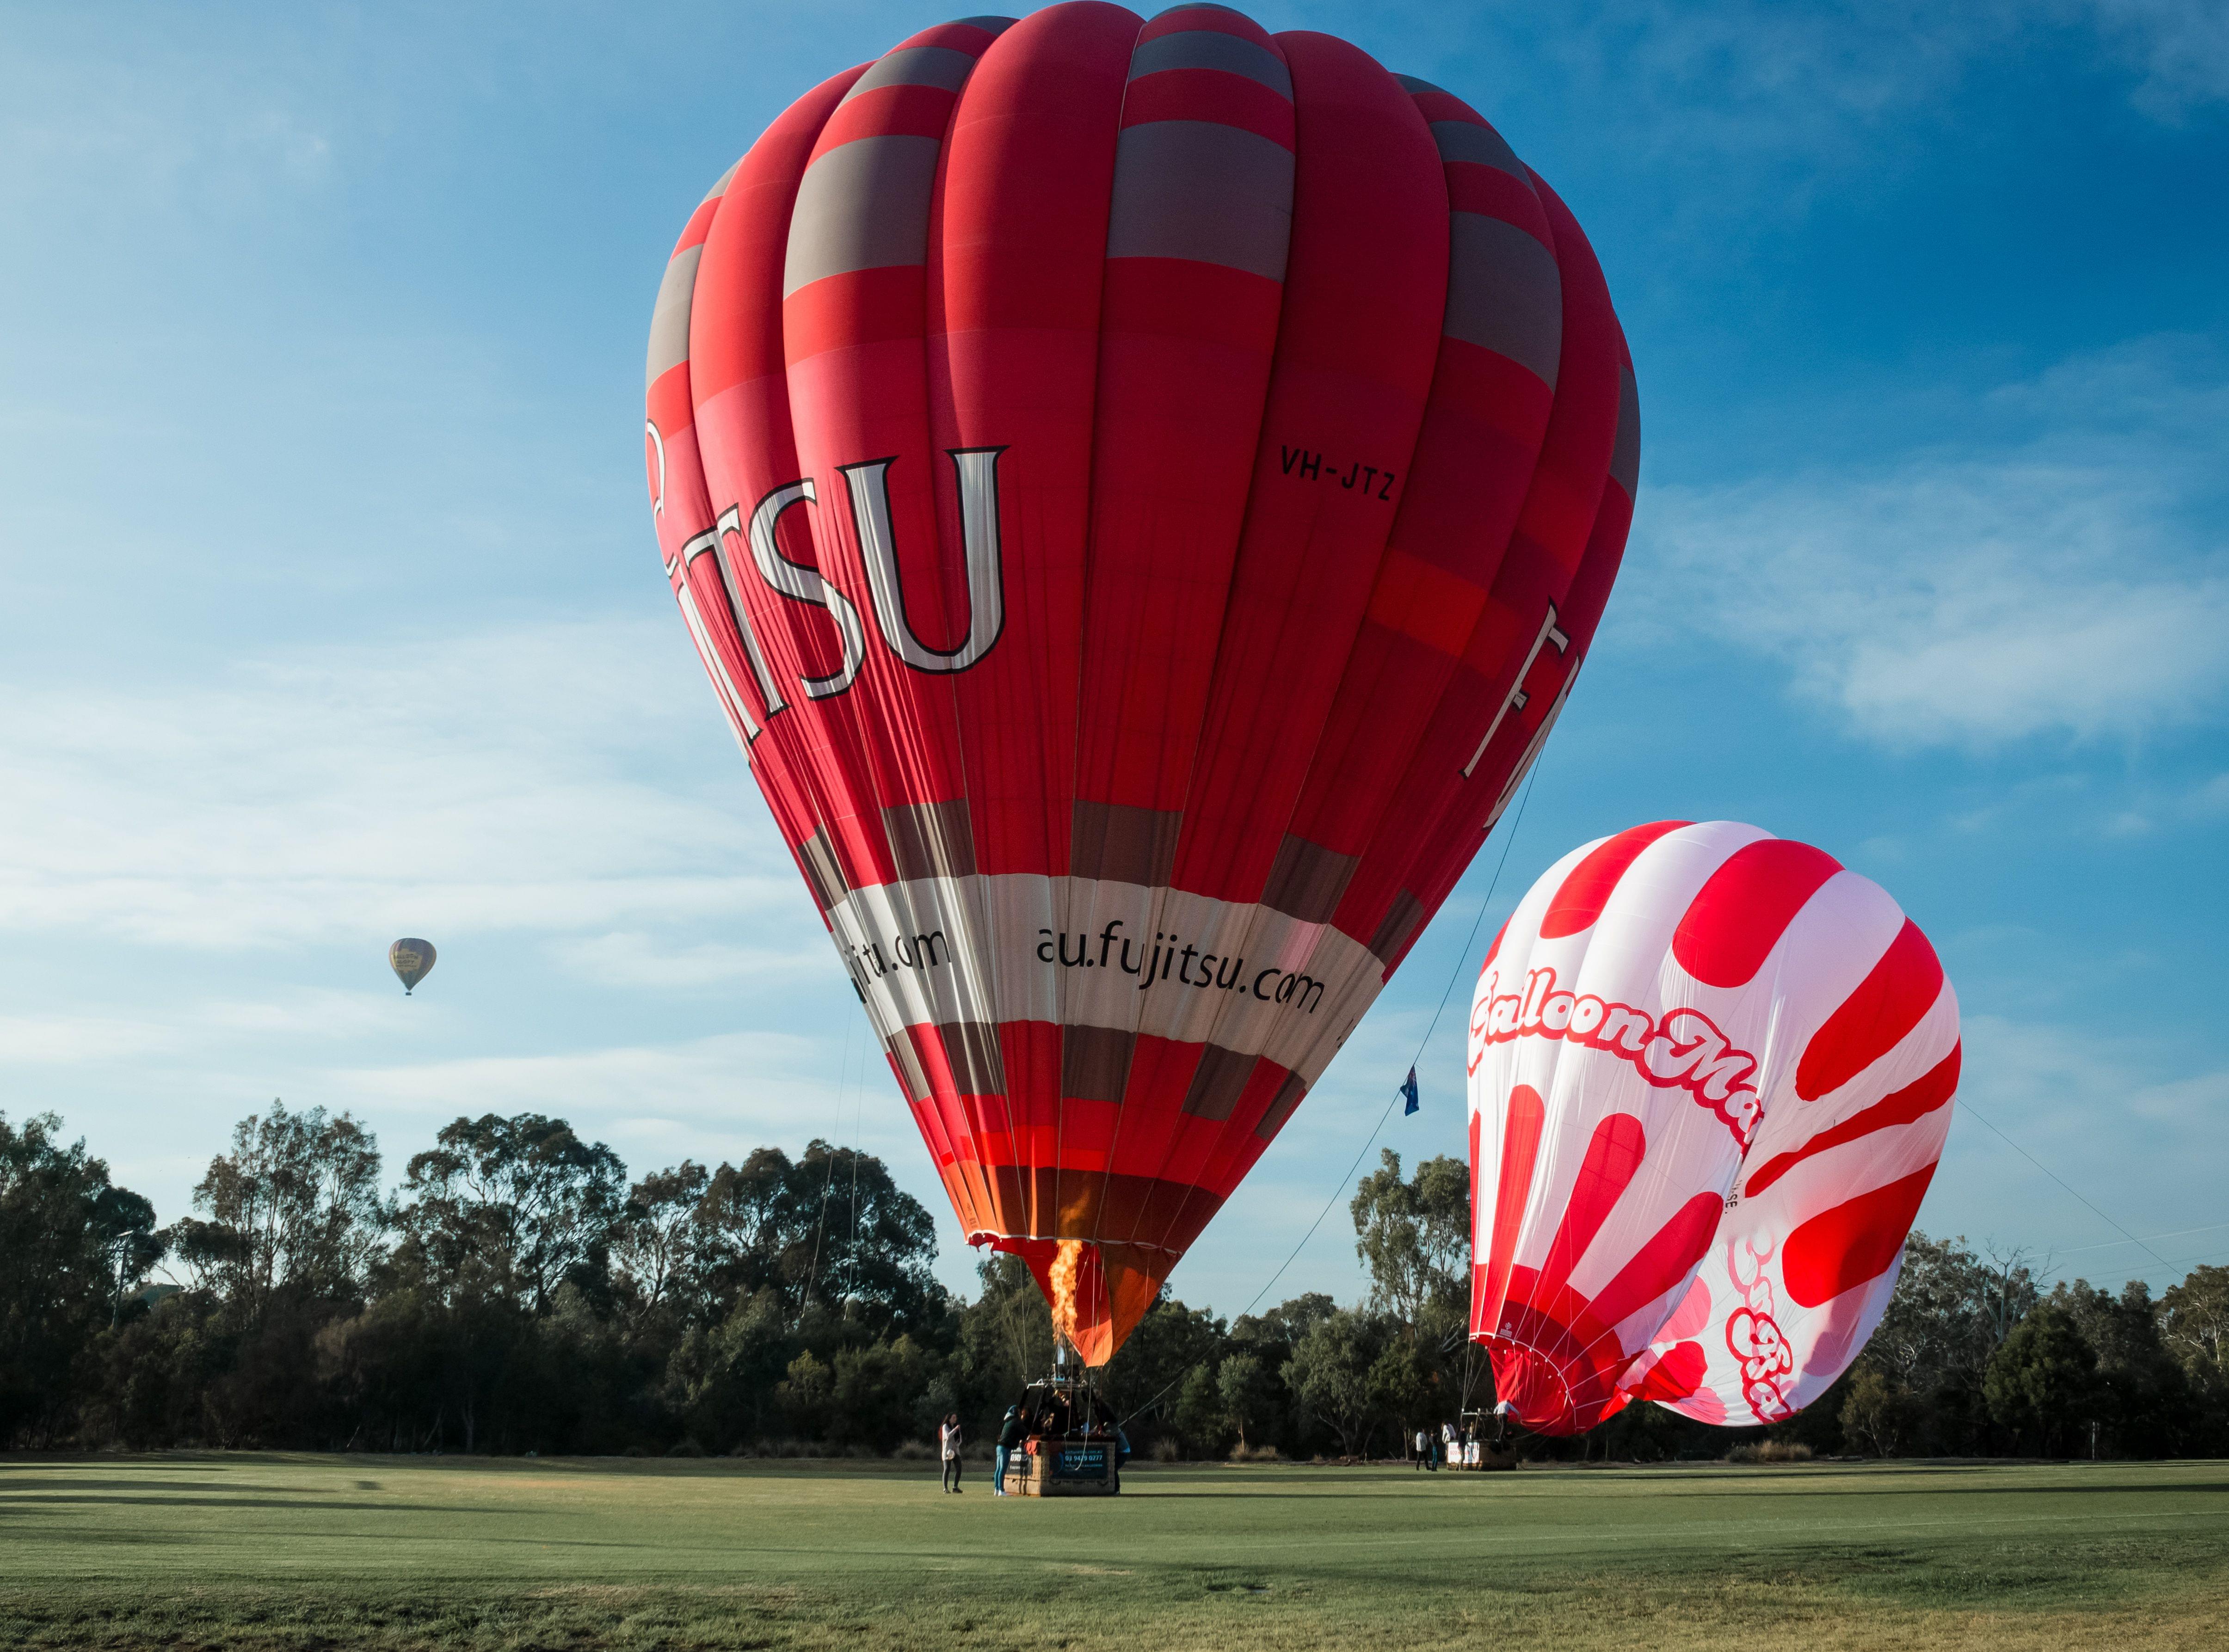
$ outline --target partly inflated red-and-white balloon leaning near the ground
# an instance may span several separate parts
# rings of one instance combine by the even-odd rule
[[[1779,1422],[1866,1347],[1957,1090],[1957,994],[1870,878],[1732,820],[1574,849],[1471,1003],[1471,1335],[1540,1434]]]

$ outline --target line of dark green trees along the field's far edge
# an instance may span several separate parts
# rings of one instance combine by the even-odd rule
[[[1103,1373],[1159,1458],[1398,1454],[1487,1411],[1467,1338],[1469,1170],[1384,1153],[1351,1202],[1369,1295],[1221,1320],[1164,1291]],[[354,1117],[272,1104],[194,1215],[109,1179],[51,1115],[0,1115],[0,1447],[470,1454],[921,1451],[983,1442],[1052,1362],[1028,1269],[934,1277],[936,1228],[874,1155],[631,1179],[564,1119],[459,1117],[388,1191]],[[2198,1456],[2229,1447],[2229,1269],[2153,1300],[1915,1233],[1863,1358],[1770,1431],[1634,1405],[1531,1456]]]

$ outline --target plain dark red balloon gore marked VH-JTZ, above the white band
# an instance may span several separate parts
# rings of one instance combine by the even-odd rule
[[[1369,602],[1447,310],[1447,183],[1415,103],[1355,47],[1279,36],[1297,169],[1253,497],[1186,803],[1177,883],[1253,901],[1268,881]],[[1322,473],[1286,466],[1293,448]],[[1335,475],[1337,473],[1337,475]]]

